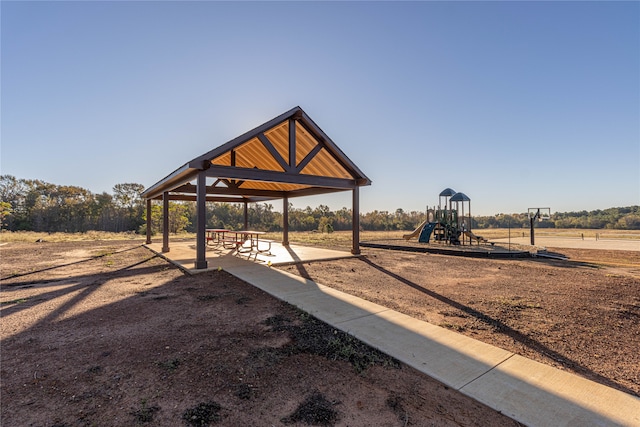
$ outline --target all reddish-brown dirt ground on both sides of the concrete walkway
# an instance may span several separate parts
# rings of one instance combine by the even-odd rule
[[[283,268],[639,395],[640,252],[554,251],[589,263],[363,248]],[[518,425],[131,241],[9,243],[0,266],[2,426]]]

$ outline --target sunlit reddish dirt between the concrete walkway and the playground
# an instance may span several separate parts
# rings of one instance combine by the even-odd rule
[[[284,269],[640,396],[640,252],[547,249],[569,259],[367,249]]]

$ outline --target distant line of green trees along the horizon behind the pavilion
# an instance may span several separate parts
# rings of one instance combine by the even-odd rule
[[[55,185],[40,180],[0,175],[0,225],[9,231],[86,232],[90,230],[146,233],[146,203],[140,197],[144,186],[116,184],[113,193],[94,194],[77,186]],[[249,204],[251,228],[281,231],[282,213],[270,203]],[[162,227],[162,204],[151,208],[152,232]],[[361,213],[360,227],[368,231],[413,230],[424,219],[423,211],[378,211]],[[242,229],[244,206],[239,203],[207,203],[206,223],[211,228]],[[351,209],[332,211],[328,206],[289,208],[289,230],[332,232],[351,229]],[[195,202],[169,202],[169,231],[194,232]],[[472,228],[526,228],[526,213],[475,216]],[[556,212],[538,228],[589,228],[640,230],[640,207],[618,207],[595,211]]]

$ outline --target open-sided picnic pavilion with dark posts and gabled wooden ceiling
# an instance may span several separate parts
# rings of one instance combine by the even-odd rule
[[[169,201],[195,201],[195,268],[207,268],[206,202],[247,204],[283,200],[283,239],[289,244],[289,199],[338,191],[352,192],[352,249],[360,253],[359,188],[371,185],[360,169],[322,129],[295,107],[245,134],[185,163],[147,188],[147,244],[151,243],[151,203],[162,200],[162,251],[169,252]]]

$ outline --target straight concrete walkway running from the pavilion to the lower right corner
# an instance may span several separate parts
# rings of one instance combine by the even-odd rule
[[[640,399],[624,392],[263,262],[227,254],[218,266],[528,426],[640,426]]]

